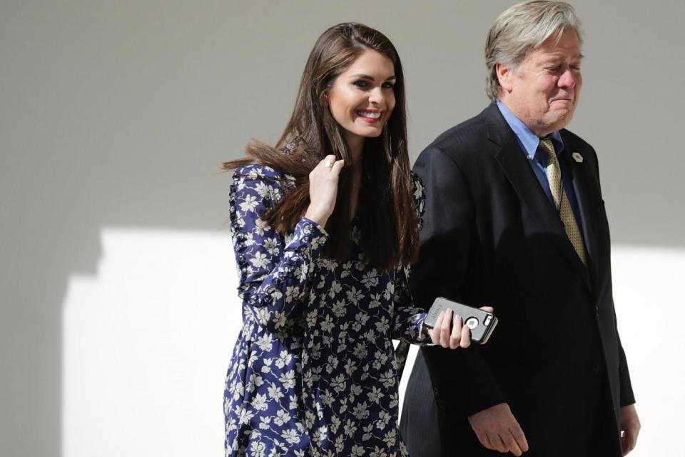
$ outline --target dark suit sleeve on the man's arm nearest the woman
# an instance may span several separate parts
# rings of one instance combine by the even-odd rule
[[[467,177],[437,146],[414,166],[426,193],[419,261],[410,284],[416,306],[430,308],[437,296],[463,300],[475,236],[475,204]],[[485,305],[487,303],[482,303]],[[477,345],[468,349],[422,348],[437,401],[450,420],[503,403],[504,398]]]

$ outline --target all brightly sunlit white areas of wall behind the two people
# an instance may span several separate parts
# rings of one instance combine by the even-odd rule
[[[109,228],[101,236],[96,276],[68,282],[63,455],[220,455],[223,376],[240,329],[230,237]],[[644,423],[634,456],[679,455],[671,437],[685,410],[685,250],[615,246],[612,263]]]

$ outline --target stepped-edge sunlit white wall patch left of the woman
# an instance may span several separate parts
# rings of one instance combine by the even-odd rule
[[[240,328],[230,237],[108,229],[64,303],[64,456],[218,456]]]

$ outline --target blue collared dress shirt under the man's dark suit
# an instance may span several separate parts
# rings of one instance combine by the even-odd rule
[[[549,203],[554,207],[554,211],[558,211],[557,206],[554,204],[552,191],[549,190],[549,181],[547,180],[547,154],[545,154],[544,151],[539,151],[538,149],[540,139],[532,132],[531,129],[528,128],[528,126],[526,126],[526,124],[521,121],[521,119],[514,116],[512,111],[509,111],[507,106],[504,105],[502,101],[497,99],[495,102],[497,103],[499,112],[502,113],[502,116],[504,116],[504,120],[507,121],[509,127],[511,127],[511,129],[514,131],[514,134],[516,134],[516,139],[519,142],[519,146],[521,146],[521,151],[523,155],[526,156],[526,159],[528,159],[528,163],[530,164],[537,181],[539,181],[540,186],[542,186],[544,193],[547,195]],[[564,151],[564,140],[562,140],[562,135],[559,134],[559,131],[554,131],[552,134],[549,134],[549,138],[552,139],[552,143],[554,143],[554,151],[556,151],[558,158],[559,155],[562,154],[562,151]],[[569,199],[569,204],[571,204],[573,215],[576,217],[578,229],[582,234],[582,220],[580,219],[578,199],[576,198],[576,192],[573,189],[571,174],[564,166],[564,161],[559,160],[559,167],[562,169],[562,184],[564,186],[564,194],[566,194]]]

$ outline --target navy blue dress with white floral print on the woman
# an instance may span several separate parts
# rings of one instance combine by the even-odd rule
[[[421,216],[423,187],[412,179]],[[293,185],[267,166],[233,176],[243,328],[225,383],[226,456],[407,456],[392,338],[430,341],[408,268],[369,266],[354,222],[345,263],[321,255],[328,234],[310,219],[281,236],[261,216]]]

